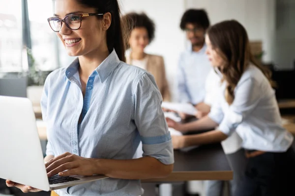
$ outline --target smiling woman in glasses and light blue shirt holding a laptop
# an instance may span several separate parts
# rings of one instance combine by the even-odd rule
[[[48,22],[67,53],[78,56],[45,82],[48,176],[110,177],[52,195],[142,195],[139,179],[172,172],[173,147],[153,76],[123,62],[117,0],[55,0]],[[140,141],[144,156],[132,159]],[[40,191],[6,183],[26,193]]]

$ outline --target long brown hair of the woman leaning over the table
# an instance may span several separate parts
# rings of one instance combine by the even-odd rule
[[[240,23],[224,21],[209,27],[207,34],[213,49],[226,62],[220,71],[227,83],[225,98],[229,104],[233,103],[236,85],[250,64],[259,68],[273,85],[270,70],[260,65],[252,55],[247,31]]]

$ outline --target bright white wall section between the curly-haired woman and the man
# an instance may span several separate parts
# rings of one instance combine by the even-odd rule
[[[184,0],[120,0],[122,13],[144,11],[156,25],[154,41],[148,53],[162,55],[173,98],[178,57],[185,48],[185,35],[179,28],[184,12]]]

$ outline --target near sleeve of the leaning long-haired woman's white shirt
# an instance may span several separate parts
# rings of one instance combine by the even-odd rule
[[[234,102],[229,106],[218,129],[226,135],[231,135],[259,103],[261,93],[263,93],[260,89],[259,83],[253,78],[239,82]]]

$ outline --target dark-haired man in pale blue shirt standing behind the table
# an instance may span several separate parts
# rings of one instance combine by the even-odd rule
[[[182,52],[177,68],[178,101],[192,103],[199,111],[207,110],[205,81],[211,69],[206,55],[205,33],[210,25],[207,13],[203,9],[187,10],[180,22],[180,28],[186,32],[189,47]],[[184,114],[180,114],[185,118]]]

